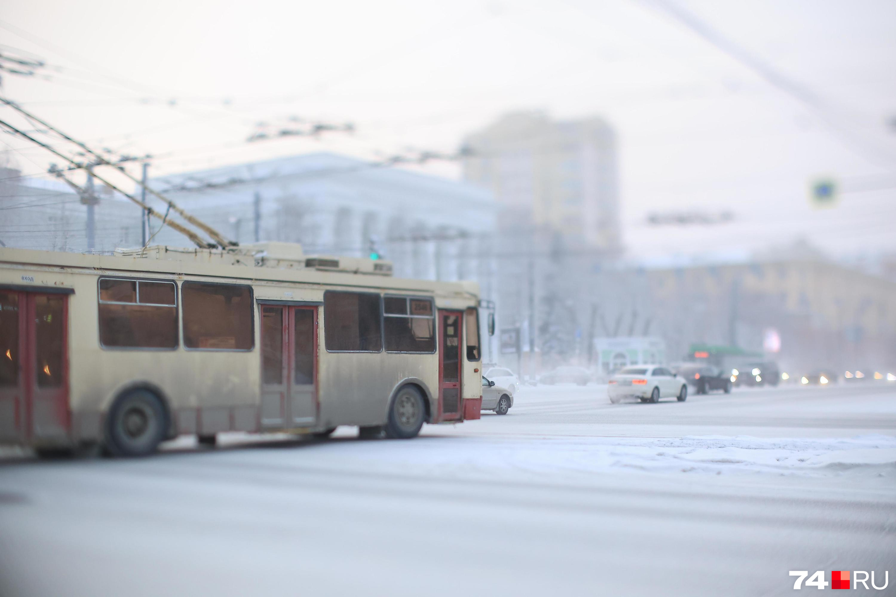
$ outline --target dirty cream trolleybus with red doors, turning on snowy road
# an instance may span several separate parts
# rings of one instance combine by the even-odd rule
[[[478,419],[478,286],[391,273],[287,243],[0,249],[0,442],[136,456],[184,434]]]

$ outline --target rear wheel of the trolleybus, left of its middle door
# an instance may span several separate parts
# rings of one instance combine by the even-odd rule
[[[159,397],[148,389],[133,389],[109,409],[106,448],[112,456],[145,456],[159,447],[166,429]]]

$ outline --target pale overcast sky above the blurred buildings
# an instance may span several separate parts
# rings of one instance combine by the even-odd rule
[[[320,150],[451,152],[504,112],[537,108],[616,128],[634,252],[754,251],[797,236],[838,254],[896,252],[893,2],[0,5],[0,49],[46,60],[50,79],[2,73],[4,96],[99,145],[153,154],[155,174]],[[245,141],[257,122],[292,116],[357,132]],[[27,148],[3,154],[25,171],[53,161],[0,140]],[[454,164],[426,170],[459,176]],[[822,175],[844,192],[817,212],[807,194]],[[705,235],[643,224],[650,211],[690,208],[737,220]]]

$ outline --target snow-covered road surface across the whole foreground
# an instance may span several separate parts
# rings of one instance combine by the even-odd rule
[[[610,405],[523,388],[411,441],[0,465],[0,595],[778,595],[890,571],[896,385]]]

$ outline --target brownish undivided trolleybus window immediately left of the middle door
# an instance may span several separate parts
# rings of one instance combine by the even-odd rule
[[[184,345],[199,350],[252,350],[252,286],[184,282]]]

